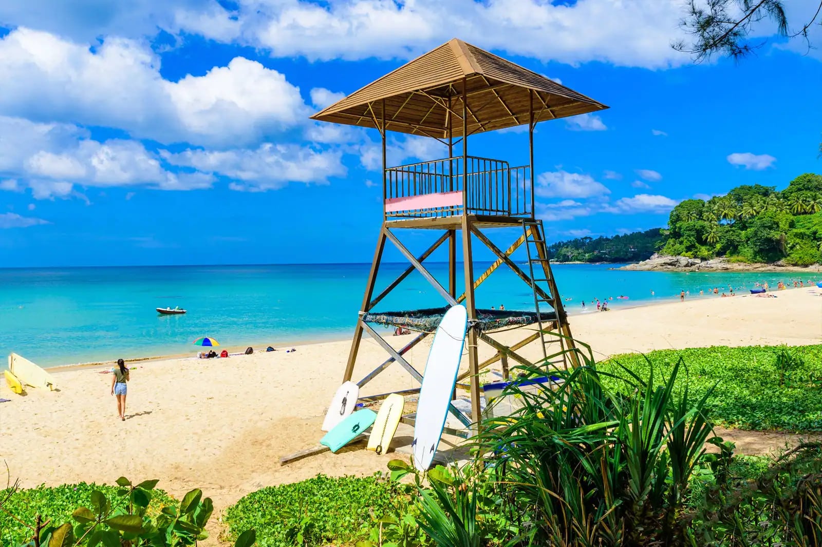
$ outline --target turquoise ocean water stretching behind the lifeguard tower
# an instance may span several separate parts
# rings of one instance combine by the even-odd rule
[[[428,265],[444,283],[446,264]],[[476,263],[474,270],[479,273],[487,265]],[[791,278],[612,267],[553,266],[561,296],[571,299],[566,301],[570,313],[582,311],[582,299],[590,306],[594,298],[613,296],[609,304],[618,313],[620,307],[678,298],[681,290],[691,296],[713,287],[747,292],[757,282],[776,287],[779,279]],[[406,264],[383,264],[377,292],[405,268]],[[369,264],[0,269],[0,356],[17,352],[51,366],[121,356],[193,355],[192,341],[200,336],[217,338],[229,347],[282,347],[347,338],[357,319],[368,269]],[[619,300],[619,295],[630,299]],[[529,287],[504,267],[479,287],[477,301],[480,307],[502,304],[508,310],[533,310]],[[377,310],[442,305],[436,291],[414,273]],[[180,306],[188,313],[158,315],[155,308],[165,306]]]

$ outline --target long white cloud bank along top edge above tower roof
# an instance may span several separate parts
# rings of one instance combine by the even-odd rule
[[[679,2],[672,0],[584,0],[570,6],[542,0],[239,0],[236,7],[222,15],[211,10],[199,19],[187,15],[196,10],[182,9],[173,25],[164,28],[179,26],[210,39],[250,44],[275,57],[312,61],[409,58],[455,35],[483,48],[543,61],[597,60],[653,68],[689,61],[670,47],[681,17]]]

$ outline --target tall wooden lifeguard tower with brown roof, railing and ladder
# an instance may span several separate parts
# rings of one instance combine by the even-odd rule
[[[545,246],[543,223],[534,216],[533,130],[538,122],[607,108],[602,103],[529,71],[513,62],[483,51],[459,39],[433,49],[413,61],[382,76],[312,116],[323,122],[373,127],[382,137],[383,223],[377,237],[376,252],[368,275],[363,306],[354,329],[351,352],[343,380],[351,379],[358,349],[367,332],[383,347],[388,358],[376,365],[358,381],[362,387],[391,365],[399,363],[422,383],[423,376],[404,358],[404,354],[430,336],[447,308],[403,312],[375,313],[376,306],[404,278],[417,270],[442,296],[447,306],[464,303],[468,310],[469,331],[466,339],[469,370],[458,378],[458,388],[470,393],[471,412],[450,412],[468,426],[480,418],[478,372],[501,361],[507,375],[509,361],[532,363],[517,352],[531,342],[542,344],[543,356],[554,356],[550,365],[575,365],[575,353],[563,352],[573,347],[566,311],[556,290]],[[528,126],[529,163],[511,167],[504,159],[469,155],[469,136],[513,126]],[[447,147],[445,159],[389,166],[386,164],[386,135],[397,131],[436,139]],[[516,137],[516,136],[513,136]],[[521,138],[521,137],[520,137]],[[458,146],[458,153],[455,153]],[[402,243],[405,229],[427,229],[441,232],[422,255],[413,255]],[[484,233],[492,228],[519,228],[520,236],[501,250]],[[477,278],[473,271],[473,239],[496,255],[496,262]],[[411,265],[374,296],[377,272],[386,242],[395,246]],[[444,287],[425,268],[423,261],[438,247],[447,244],[449,254],[448,287]],[[465,292],[456,294],[457,245],[463,249]],[[520,246],[527,251],[527,268],[522,269],[511,255]],[[478,310],[474,291],[501,264],[506,264],[531,287],[534,310]],[[372,327],[392,324],[417,330],[418,335],[399,350],[384,340]],[[533,324],[526,338],[504,346],[490,336],[495,329],[512,324]],[[554,331],[559,336],[547,336]],[[478,361],[477,343],[482,341],[495,350],[486,361]],[[547,348],[550,344],[556,347]],[[469,379],[469,384],[464,380]],[[419,388],[399,393],[418,392]],[[386,397],[373,395],[360,399]],[[413,424],[413,415],[404,416]],[[457,431],[450,433],[459,434]]]

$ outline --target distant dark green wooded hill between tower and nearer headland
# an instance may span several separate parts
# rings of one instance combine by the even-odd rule
[[[548,246],[555,262],[638,262],[662,244],[659,228],[614,237],[577,237]]]

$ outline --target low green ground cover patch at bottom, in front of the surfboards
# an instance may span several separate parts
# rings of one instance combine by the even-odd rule
[[[226,511],[225,522],[229,536],[253,528],[260,545],[271,547],[358,541],[411,547],[424,536],[406,517],[413,507],[409,488],[379,474],[318,475],[248,494]]]

